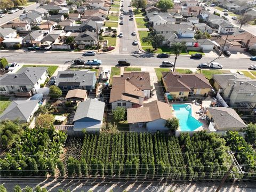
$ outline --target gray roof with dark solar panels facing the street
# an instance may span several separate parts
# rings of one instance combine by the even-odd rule
[[[70,77],[62,74],[71,74]],[[61,76],[61,77],[60,77]],[[95,71],[59,71],[56,79],[56,85],[75,83],[79,86],[91,86],[93,85],[93,77],[95,76]],[[63,86],[63,85],[61,85]]]

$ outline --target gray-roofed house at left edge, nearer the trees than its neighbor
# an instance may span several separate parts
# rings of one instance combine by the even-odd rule
[[[17,120],[22,123],[29,123],[37,111],[39,100],[12,101],[0,116],[1,121]]]

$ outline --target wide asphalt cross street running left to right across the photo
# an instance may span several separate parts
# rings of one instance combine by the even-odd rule
[[[117,65],[119,59],[127,59],[132,66],[153,66],[159,67],[164,60],[174,61],[174,56],[170,58],[160,59],[155,55],[137,53],[137,54],[97,54],[94,57],[83,57],[82,53],[65,53],[65,52],[43,52],[43,51],[1,51],[1,57],[5,57],[9,62],[18,63],[38,63],[38,64],[55,64],[55,65],[70,65],[74,59],[100,59],[102,65],[114,66]],[[203,57],[200,60],[190,59],[188,56],[180,55],[177,60],[177,67],[195,68],[199,63],[211,62],[216,57]],[[215,60],[223,65],[223,69],[248,69],[250,65],[256,64],[250,59],[233,59],[224,56]]]

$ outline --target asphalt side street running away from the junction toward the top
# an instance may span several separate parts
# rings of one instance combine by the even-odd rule
[[[128,12],[131,7],[128,5],[130,4],[130,0],[125,0],[124,2],[120,2],[124,5],[123,10]],[[122,13],[120,11],[119,13]],[[133,45],[133,41],[137,40],[137,35],[132,35],[132,32],[135,31],[135,23],[134,21],[130,21],[131,13],[124,14],[124,19],[119,20],[123,21],[124,25],[121,25],[120,31],[123,32],[123,37],[120,38],[120,45],[119,45],[119,53],[132,53],[135,51],[139,51],[138,46]],[[135,20],[135,18],[134,18]]]

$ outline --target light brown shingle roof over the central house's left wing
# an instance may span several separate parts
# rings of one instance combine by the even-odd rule
[[[112,89],[110,92],[109,102],[119,100],[130,101],[139,104],[139,98],[144,98],[144,93],[141,89],[126,81],[124,77],[113,77]]]

